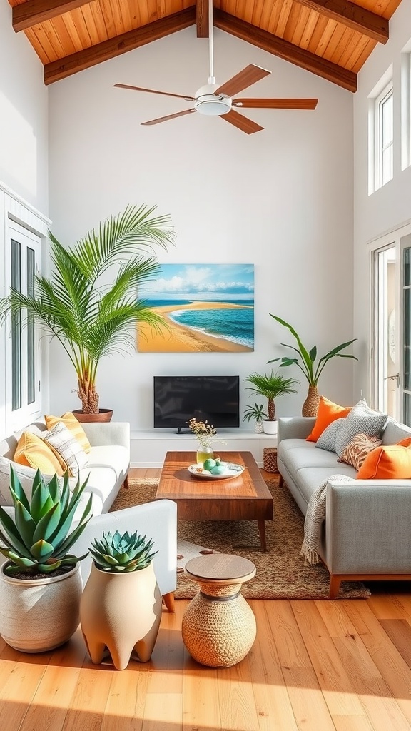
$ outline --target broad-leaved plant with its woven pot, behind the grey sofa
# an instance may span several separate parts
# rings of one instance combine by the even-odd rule
[[[317,416],[318,404],[320,404],[320,394],[318,393],[317,384],[320,375],[323,373],[323,368],[325,367],[325,364],[328,363],[328,360],[331,360],[331,358],[335,356],[338,356],[340,358],[353,358],[354,360],[358,360],[358,357],[356,357],[355,355],[341,352],[349,345],[354,343],[357,338],[348,340],[347,343],[336,345],[335,348],[331,349],[330,351],[328,351],[328,353],[325,353],[325,355],[317,360],[316,345],[314,345],[311,349],[306,348],[306,346],[304,346],[301,342],[300,336],[298,335],[296,330],[294,330],[294,327],[292,327],[292,325],[290,325],[288,322],[285,322],[285,320],[281,319],[281,317],[277,317],[276,315],[273,315],[271,313],[270,317],[273,317],[276,322],[279,322],[280,325],[284,325],[284,327],[287,327],[287,329],[290,330],[290,333],[294,336],[298,347],[282,343],[282,346],[284,346],[284,348],[290,348],[295,353],[297,353],[297,357],[295,357],[294,355],[293,357],[283,356],[282,358],[273,358],[272,360],[268,360],[268,363],[276,363],[276,361],[281,360],[281,363],[279,365],[280,368],[293,365],[300,368],[301,373],[303,374],[303,376],[305,376],[309,384],[308,394],[306,400],[303,403],[301,415]]]

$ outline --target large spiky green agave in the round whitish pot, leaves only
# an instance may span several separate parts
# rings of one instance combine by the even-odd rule
[[[0,507],[0,541],[4,544],[0,545],[0,553],[10,562],[4,567],[5,574],[49,574],[60,567],[74,567],[78,561],[86,558],[87,553],[73,556],[68,552],[91,518],[92,495],[78,526],[69,533],[87,480],[82,485],[78,480],[75,489],[70,491],[68,473],[64,475],[60,487],[56,475],[46,484],[37,470],[29,501],[15,471],[10,467],[14,519]]]

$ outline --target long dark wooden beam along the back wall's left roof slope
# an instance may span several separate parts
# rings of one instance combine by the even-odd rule
[[[45,84],[51,84],[59,81],[67,76],[89,69],[92,66],[101,64],[102,61],[108,61],[110,58],[116,58],[121,53],[127,53],[129,50],[140,48],[140,46],[157,41],[184,28],[195,25],[195,7],[188,7],[167,18],[154,20],[146,26],[141,26],[133,31],[127,31],[115,38],[109,38],[107,41],[97,43],[91,48],[85,48],[70,56],[64,56],[50,64],[45,64],[44,80]]]

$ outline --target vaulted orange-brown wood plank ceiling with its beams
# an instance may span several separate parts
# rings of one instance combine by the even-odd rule
[[[208,0],[9,0],[12,24],[45,67],[45,83],[195,26]],[[355,91],[357,73],[388,40],[401,0],[214,0],[214,26]]]

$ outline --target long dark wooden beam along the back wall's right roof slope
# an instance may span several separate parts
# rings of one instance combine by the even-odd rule
[[[301,69],[322,76],[324,79],[348,89],[348,91],[357,91],[357,75],[352,71],[333,64],[331,61],[321,58],[321,56],[316,56],[304,48],[285,41],[283,38],[252,26],[251,23],[246,23],[245,20],[235,18],[234,15],[216,8],[214,10],[214,26],[237,38],[241,38],[247,43],[252,43],[257,48],[272,53],[274,56],[283,58],[284,61],[290,61],[291,64],[295,64]]]

